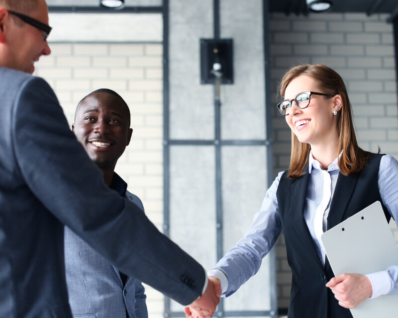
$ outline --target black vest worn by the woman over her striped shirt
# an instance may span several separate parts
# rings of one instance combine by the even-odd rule
[[[384,207],[378,188],[379,165],[382,155],[374,154],[359,173],[344,176],[339,173],[327,218],[331,229],[375,201],[382,203],[388,221],[390,214]],[[305,223],[303,213],[308,188],[308,165],[298,180],[282,175],[277,190],[279,213],[285,236],[288,263],[292,269],[292,289],[289,318],[352,318],[341,307],[325,284],[334,277],[326,259],[322,265],[315,244]],[[349,243],[349,242],[347,242]]]

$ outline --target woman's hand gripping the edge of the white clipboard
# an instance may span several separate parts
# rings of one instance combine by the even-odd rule
[[[330,288],[339,305],[352,309],[372,296],[372,284],[367,276],[341,274],[332,278],[326,287]]]

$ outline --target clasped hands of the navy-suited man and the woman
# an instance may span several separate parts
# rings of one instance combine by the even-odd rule
[[[203,295],[184,309],[187,318],[210,318],[213,316],[221,297],[221,282],[208,276],[208,283]]]

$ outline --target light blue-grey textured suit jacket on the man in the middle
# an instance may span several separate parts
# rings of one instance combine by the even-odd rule
[[[116,173],[110,187],[144,211],[141,200],[126,191],[127,183]],[[73,317],[148,318],[141,282],[127,277],[123,283],[119,270],[68,227],[65,271]]]

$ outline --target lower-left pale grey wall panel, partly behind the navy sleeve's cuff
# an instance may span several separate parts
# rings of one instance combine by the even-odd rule
[[[170,238],[205,269],[216,263],[214,177],[214,147],[170,147]]]

